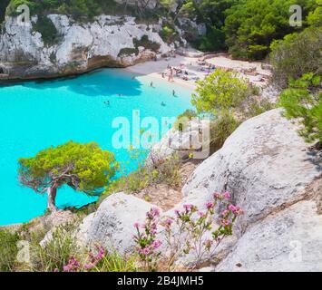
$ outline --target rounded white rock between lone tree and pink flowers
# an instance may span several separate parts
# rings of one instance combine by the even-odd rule
[[[122,192],[112,194],[95,213],[83,219],[77,238],[83,246],[97,243],[121,254],[127,253],[134,246],[134,223],[143,223],[146,212],[152,207],[150,203]]]

